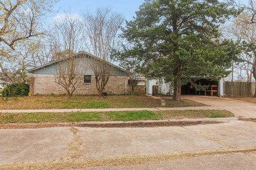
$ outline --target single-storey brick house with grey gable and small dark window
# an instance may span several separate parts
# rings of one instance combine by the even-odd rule
[[[97,56],[86,52],[79,52],[76,56],[81,63],[92,63],[94,59],[101,60]],[[73,57],[74,57],[73,56]],[[63,60],[63,59],[62,59]],[[57,77],[57,63],[62,61],[54,61],[34,69],[28,70],[32,73],[32,79],[30,82],[30,92],[32,94],[49,95],[53,94],[65,94],[66,91],[63,87],[55,82]],[[128,90],[128,74],[127,71],[120,67],[109,63],[112,67],[111,76],[105,87],[105,91],[108,94],[126,94]],[[88,67],[84,67],[84,75],[82,76],[82,83],[79,84],[74,94],[79,95],[97,95],[95,77],[93,71]]]

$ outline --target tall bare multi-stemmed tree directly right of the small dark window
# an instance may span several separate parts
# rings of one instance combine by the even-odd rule
[[[116,45],[117,32],[124,19],[119,14],[111,13],[108,8],[98,8],[95,14],[84,13],[82,18],[87,49],[99,57],[94,59],[91,69],[98,94],[102,96],[111,76],[110,49]]]

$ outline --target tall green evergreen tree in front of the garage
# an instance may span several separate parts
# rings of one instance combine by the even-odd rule
[[[173,99],[180,100],[192,77],[229,74],[235,46],[220,40],[219,25],[239,12],[218,0],[145,1],[122,37],[144,61],[146,76],[172,82]]]

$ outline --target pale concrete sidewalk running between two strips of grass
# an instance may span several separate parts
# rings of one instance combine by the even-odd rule
[[[152,108],[91,108],[91,109],[27,109],[0,110],[0,113],[45,113],[45,112],[115,112],[115,111],[186,111],[186,110],[222,110],[214,106],[198,107],[152,107]]]

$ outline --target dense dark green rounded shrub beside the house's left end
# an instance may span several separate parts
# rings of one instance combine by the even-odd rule
[[[28,96],[29,84],[26,83],[12,83],[2,91],[4,97],[17,97],[17,96]]]

